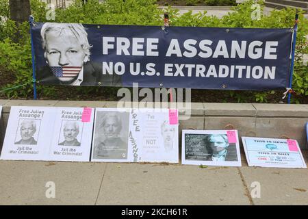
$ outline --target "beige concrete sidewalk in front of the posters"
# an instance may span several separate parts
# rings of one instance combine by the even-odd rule
[[[45,196],[48,181],[55,198]],[[248,167],[243,151],[241,168],[2,160],[0,204],[308,205],[308,170]]]

